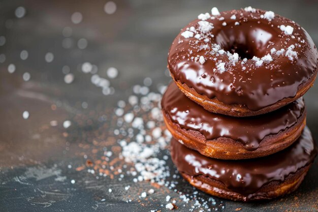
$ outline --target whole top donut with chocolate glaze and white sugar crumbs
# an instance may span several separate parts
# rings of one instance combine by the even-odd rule
[[[317,63],[305,29],[251,7],[200,14],[181,29],[168,55],[171,76],[187,97],[231,116],[267,113],[300,98]]]

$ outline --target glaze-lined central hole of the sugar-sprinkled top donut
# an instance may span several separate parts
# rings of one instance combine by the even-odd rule
[[[268,46],[275,42],[279,32],[273,27],[249,23],[222,27],[215,36],[215,43],[225,51],[238,53],[243,58],[263,57],[269,53]]]

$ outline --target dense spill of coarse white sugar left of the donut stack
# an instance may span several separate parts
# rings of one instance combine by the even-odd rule
[[[123,199],[127,203],[138,201],[144,204],[152,198],[161,198],[162,204],[153,211],[166,209],[164,202],[169,203],[168,209],[189,207],[190,211],[216,211],[224,208],[221,201],[216,205],[214,198],[207,198],[189,185],[177,187],[183,181],[170,159],[168,145],[172,135],[164,126],[160,108],[165,86],[158,84],[160,93],[149,90],[147,94],[139,92],[141,87],[134,85],[135,95],[119,100],[115,108],[111,108],[113,112],[105,112],[107,119],[115,124],[101,129],[103,134],[108,133],[103,138],[98,136],[89,149],[87,144],[83,146],[88,150],[84,155],[86,165],[74,168],[85,169],[96,178],[115,180],[114,187],[107,188],[109,193],[117,195],[129,191],[131,194]],[[96,153],[91,149],[101,150]],[[162,192],[166,195],[161,197]],[[152,196],[155,193],[158,195]]]

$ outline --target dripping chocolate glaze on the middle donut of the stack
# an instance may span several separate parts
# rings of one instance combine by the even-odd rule
[[[186,130],[196,130],[206,140],[232,138],[247,150],[256,150],[267,135],[277,134],[298,122],[305,111],[303,98],[271,113],[251,117],[232,117],[206,111],[189,100],[171,83],[162,99],[162,108],[172,122]]]

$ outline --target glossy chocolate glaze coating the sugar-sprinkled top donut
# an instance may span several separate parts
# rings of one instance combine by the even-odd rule
[[[190,22],[181,30],[169,50],[168,65],[175,80],[210,99],[216,97],[225,104],[246,105],[254,111],[284,98],[295,97],[298,87],[315,74],[318,51],[310,36],[297,23],[276,14],[273,20],[268,21],[260,18],[264,12],[232,10],[221,12],[214,20],[206,20],[214,26],[209,32],[214,37],[208,36],[210,41],[207,43],[195,37],[181,36],[190,26],[198,28],[200,20]],[[230,18],[232,15],[236,15],[235,20]],[[219,17],[225,19],[219,20]],[[223,22],[227,25],[223,26]],[[239,25],[235,25],[235,22],[239,22]],[[278,28],[282,24],[292,26],[293,34],[285,35]],[[207,49],[200,49],[206,44]],[[226,51],[237,52],[241,58],[234,66],[226,67],[227,71],[215,71],[217,62],[227,62],[228,58],[225,55],[211,55],[212,44],[218,44]],[[252,56],[262,57],[270,53],[272,48],[287,49],[292,44],[297,44],[294,50],[298,53],[298,58],[293,61],[284,55],[273,56],[272,62],[256,67],[255,61],[250,59]],[[204,64],[191,59],[198,55],[206,58]],[[241,65],[244,57],[248,60]],[[213,60],[215,58],[216,61]]]

